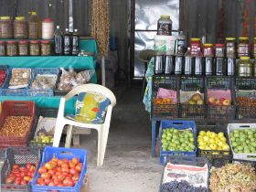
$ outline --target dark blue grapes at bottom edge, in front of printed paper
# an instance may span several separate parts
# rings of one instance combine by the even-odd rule
[[[171,181],[161,185],[161,192],[207,192],[206,187],[193,187],[187,181]]]

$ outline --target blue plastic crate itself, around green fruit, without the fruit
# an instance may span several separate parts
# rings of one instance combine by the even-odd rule
[[[162,130],[168,128],[176,128],[177,130],[186,130],[187,128],[192,128],[194,135],[194,152],[184,152],[184,151],[163,151],[162,150]],[[169,155],[183,155],[183,156],[197,156],[197,126],[194,121],[161,121],[160,132],[159,132],[159,141],[160,141],[160,162],[162,165],[165,164],[165,161]]]

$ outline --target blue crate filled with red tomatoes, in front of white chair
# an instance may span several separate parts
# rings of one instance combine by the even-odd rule
[[[31,182],[33,192],[78,192],[87,171],[87,151],[46,146],[37,175]]]

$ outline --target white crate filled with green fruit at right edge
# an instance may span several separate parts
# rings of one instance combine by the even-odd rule
[[[256,161],[256,124],[229,123],[228,133],[233,158]]]

